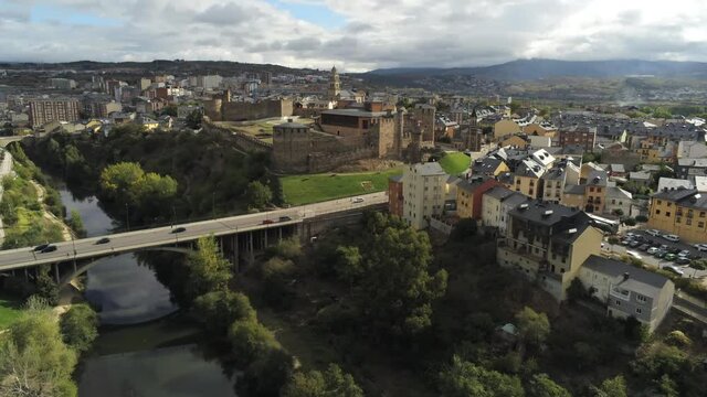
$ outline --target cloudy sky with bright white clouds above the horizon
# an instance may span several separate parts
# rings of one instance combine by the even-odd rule
[[[0,0],[0,61],[707,62],[705,0]]]

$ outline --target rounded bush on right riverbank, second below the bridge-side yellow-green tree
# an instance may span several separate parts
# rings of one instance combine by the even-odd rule
[[[229,341],[241,363],[261,360],[273,350],[281,348],[273,333],[256,321],[235,321],[229,330]]]

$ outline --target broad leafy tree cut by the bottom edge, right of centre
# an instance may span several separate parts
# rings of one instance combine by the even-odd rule
[[[525,391],[517,376],[489,371],[464,362],[458,356],[439,375],[439,388],[445,397],[523,397]]]

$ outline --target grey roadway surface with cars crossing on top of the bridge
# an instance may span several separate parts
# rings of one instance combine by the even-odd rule
[[[61,260],[72,259],[74,257],[76,259],[92,258],[160,245],[177,244],[179,242],[194,240],[199,237],[211,234],[221,236],[233,234],[234,232],[249,232],[281,225],[297,224],[304,218],[357,208],[363,210],[370,205],[388,202],[388,195],[386,192],[360,195],[360,197],[363,197],[363,202],[361,203],[354,203],[350,197],[347,197],[257,214],[239,215],[188,224],[176,224],[173,226],[156,227],[107,236],[82,238],[73,242],[56,243],[54,244],[56,246],[56,250],[46,254],[36,254],[32,250],[33,247],[2,250],[0,251],[0,271],[41,264],[53,264]],[[279,222],[281,216],[288,216],[291,219]],[[273,223],[264,224],[265,221],[272,221]],[[184,232],[172,233],[177,227],[183,227]],[[107,244],[96,244],[96,242],[102,237],[109,237],[110,242]]]

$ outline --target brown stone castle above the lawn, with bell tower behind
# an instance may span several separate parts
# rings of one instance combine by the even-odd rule
[[[436,109],[418,104],[408,111],[382,101],[350,101],[341,107],[341,86],[331,68],[327,96],[339,107],[323,110],[316,122],[273,128],[273,163],[282,172],[324,172],[360,159],[419,161],[434,146]]]

